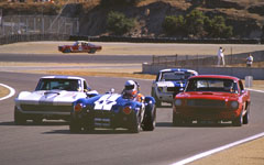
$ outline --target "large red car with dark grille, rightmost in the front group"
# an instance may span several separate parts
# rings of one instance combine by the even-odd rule
[[[232,121],[241,127],[249,123],[250,102],[250,92],[237,77],[193,76],[185,90],[175,96],[173,124]]]

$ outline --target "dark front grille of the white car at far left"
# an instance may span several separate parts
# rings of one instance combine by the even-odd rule
[[[23,111],[70,112],[72,106],[21,105]]]

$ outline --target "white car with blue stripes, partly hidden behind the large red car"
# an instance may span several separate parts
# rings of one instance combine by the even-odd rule
[[[160,70],[152,84],[152,97],[156,100],[156,107],[161,107],[162,102],[172,103],[174,97],[184,90],[188,78],[196,75],[198,75],[196,70],[184,68]]]

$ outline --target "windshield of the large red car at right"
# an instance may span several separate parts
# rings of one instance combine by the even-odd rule
[[[237,92],[238,84],[232,79],[190,79],[186,91]]]

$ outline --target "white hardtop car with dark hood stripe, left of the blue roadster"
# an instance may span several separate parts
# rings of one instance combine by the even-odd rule
[[[34,91],[21,91],[14,99],[14,123],[26,120],[40,123],[43,119],[69,120],[73,102],[97,96],[81,77],[45,76]]]

